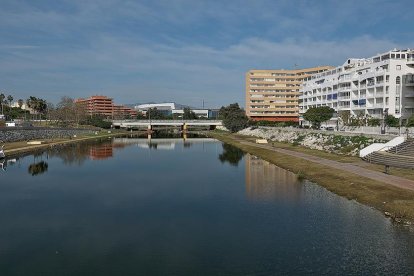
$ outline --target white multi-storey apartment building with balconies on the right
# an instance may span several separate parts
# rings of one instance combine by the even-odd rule
[[[299,113],[320,106],[332,107],[339,115],[407,119],[414,114],[414,50],[350,58],[342,66],[308,77],[299,96]],[[329,124],[336,125],[337,118]],[[300,122],[305,123],[302,116]]]

